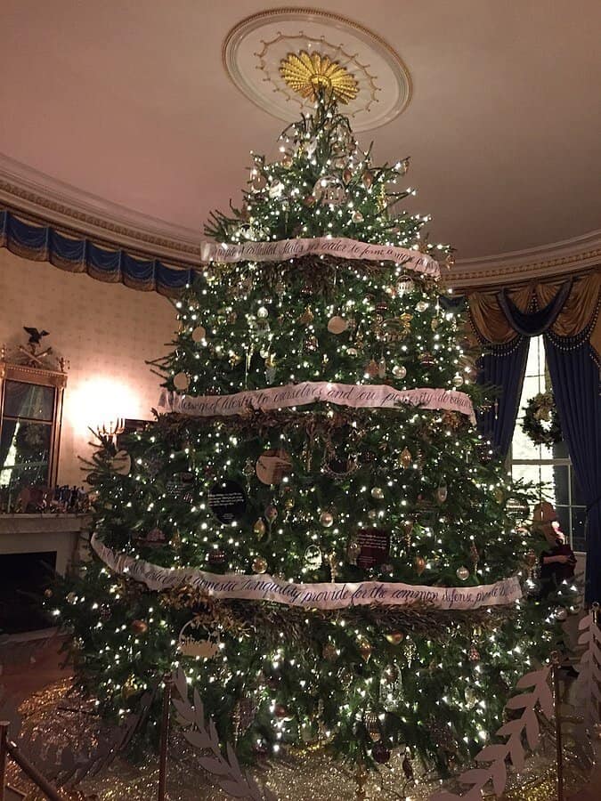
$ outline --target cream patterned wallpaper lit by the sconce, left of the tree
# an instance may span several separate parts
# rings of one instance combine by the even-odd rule
[[[175,310],[155,292],[105,284],[0,248],[0,344],[27,342],[23,326],[50,331],[43,342],[70,362],[59,482],[81,485],[77,457],[90,453],[88,425],[152,418],[159,379],[145,360],[166,352]]]

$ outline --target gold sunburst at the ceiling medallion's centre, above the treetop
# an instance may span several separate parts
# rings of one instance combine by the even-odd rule
[[[330,94],[339,103],[353,101],[359,84],[351,72],[321,53],[288,53],[280,61],[280,76],[301,97],[316,100],[319,93]]]

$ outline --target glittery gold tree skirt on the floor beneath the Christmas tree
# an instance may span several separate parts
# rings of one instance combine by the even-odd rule
[[[22,729],[20,741],[24,750],[39,765],[40,760],[60,758],[65,747],[78,756],[93,756],[93,749],[106,736],[106,726],[93,711],[93,702],[84,700],[71,686],[70,680],[53,684],[34,693],[20,706]],[[33,743],[33,747],[31,746]],[[218,789],[210,776],[198,765],[198,753],[174,732],[170,742],[167,798],[169,801],[225,801],[231,796]],[[417,768],[417,766],[415,766]],[[417,773],[417,770],[416,770]],[[307,749],[256,771],[258,783],[267,783],[280,801],[344,801],[355,798],[356,783],[352,766],[333,763],[322,749]],[[8,784],[26,793],[27,801],[45,801],[18,768],[10,764]],[[567,790],[575,791],[582,775],[568,771]],[[118,756],[96,775],[81,781],[77,788],[65,788],[61,794],[70,801],[151,801],[157,797],[158,760],[149,756],[140,764]],[[370,777],[368,798],[378,801],[426,801],[438,781],[422,776],[417,782],[406,781],[401,758]],[[556,796],[553,754],[543,753],[526,763],[524,773],[513,776],[503,798],[507,801],[550,801]],[[492,796],[491,796],[492,798]]]

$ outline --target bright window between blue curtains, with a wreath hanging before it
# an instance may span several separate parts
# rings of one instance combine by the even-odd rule
[[[516,430],[511,443],[510,461],[513,478],[522,478],[542,484],[540,499],[550,501],[556,507],[561,529],[575,551],[585,550],[584,522],[586,505],[573,472],[565,442],[548,448],[534,445],[522,431],[524,407],[538,392],[551,389],[545,363],[545,348],[542,336],[532,337],[524,387],[517,413]]]

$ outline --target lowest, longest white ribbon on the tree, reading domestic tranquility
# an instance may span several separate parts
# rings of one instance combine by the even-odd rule
[[[369,604],[410,606],[412,603],[424,603],[435,609],[479,609],[483,606],[507,606],[522,597],[516,576],[479,587],[425,587],[386,581],[296,584],[266,573],[220,576],[195,568],[164,568],[113,551],[103,545],[96,534],[92,538],[92,547],[110,570],[141,581],[151,590],[191,585],[215,598],[271,601],[306,609],[346,609]]]

